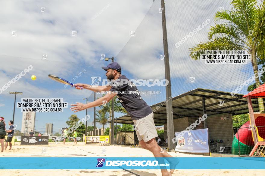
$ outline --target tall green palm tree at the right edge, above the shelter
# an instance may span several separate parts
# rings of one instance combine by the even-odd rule
[[[216,21],[225,21],[211,26],[208,33],[210,41],[190,48],[190,56],[198,60],[205,50],[246,50],[251,54],[251,64],[256,75],[257,58],[265,58],[265,1],[257,4],[256,0],[233,0],[231,4],[231,11],[215,14]],[[260,86],[259,77],[255,83],[256,87]],[[258,102],[260,112],[264,112],[262,98],[258,98]]]

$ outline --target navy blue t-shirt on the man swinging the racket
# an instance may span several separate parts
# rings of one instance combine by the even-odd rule
[[[136,85],[131,83],[123,83],[123,80],[128,80],[126,76],[121,75],[117,80],[114,81],[110,91],[117,93],[117,97],[120,100],[122,106],[126,109],[128,114],[132,117],[133,120],[139,120],[153,111],[150,106],[142,99]]]

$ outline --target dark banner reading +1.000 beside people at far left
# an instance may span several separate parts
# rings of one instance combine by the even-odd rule
[[[20,145],[48,145],[49,136],[21,136]]]

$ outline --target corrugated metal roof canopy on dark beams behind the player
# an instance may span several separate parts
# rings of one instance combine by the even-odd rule
[[[205,102],[205,114],[207,116],[229,113],[240,115],[248,113],[247,98],[243,94],[214,91],[210,89],[197,88],[172,98],[173,118],[195,117],[203,115],[203,101]],[[224,104],[220,106],[220,101]],[[254,112],[259,112],[257,98],[251,98]],[[154,123],[161,126],[167,123],[166,101],[151,106],[154,111]],[[115,118],[119,124],[134,124],[129,114]],[[111,122],[111,121],[108,121]]]

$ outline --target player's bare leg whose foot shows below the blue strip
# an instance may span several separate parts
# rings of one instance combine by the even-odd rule
[[[144,142],[143,140],[141,140],[141,141]],[[154,157],[156,157],[156,158],[163,157],[163,154],[161,153],[161,148],[157,145],[155,138],[149,140],[148,142],[145,142],[145,145],[148,148],[148,150],[154,154]],[[162,160],[164,161],[163,158],[162,158]],[[162,172],[162,176],[171,176],[171,173],[168,172],[167,169],[161,169],[161,172]]]

